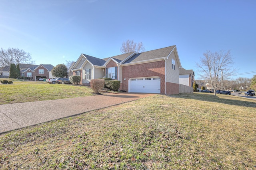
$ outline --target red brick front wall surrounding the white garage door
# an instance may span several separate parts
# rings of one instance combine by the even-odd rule
[[[129,78],[138,77],[152,77],[158,76],[161,79],[161,94],[165,94],[165,76],[164,76],[164,61],[150,62],[145,64],[136,64],[132,66],[123,66],[123,82],[120,85],[120,90],[128,92],[128,80]],[[125,78],[125,80],[124,80]],[[178,86],[179,87],[179,86]]]

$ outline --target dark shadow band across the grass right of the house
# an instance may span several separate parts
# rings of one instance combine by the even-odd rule
[[[222,94],[219,94],[219,95],[222,95]],[[236,97],[230,96],[230,95],[223,96],[224,98],[220,98],[218,94],[217,96],[214,96],[214,94],[184,93],[184,94],[172,95],[172,97],[194,99],[194,100],[200,100],[205,102],[216,102],[216,103],[228,104],[232,106],[244,106],[244,107],[256,108],[256,100],[255,102],[253,102],[253,100],[252,102],[248,100],[246,101],[245,98],[241,98],[241,100],[237,100]]]

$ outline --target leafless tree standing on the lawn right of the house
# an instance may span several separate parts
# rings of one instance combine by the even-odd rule
[[[232,76],[235,72],[235,69],[232,68],[233,58],[230,55],[230,50],[227,52],[224,50],[206,51],[203,55],[204,57],[200,57],[200,63],[196,63],[198,75],[208,81],[216,95],[216,89],[220,87],[222,80]]]

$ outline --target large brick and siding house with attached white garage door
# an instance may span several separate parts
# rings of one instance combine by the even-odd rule
[[[81,54],[70,70],[81,76],[80,84],[107,77],[120,80],[119,90],[127,92],[178,94],[180,68],[177,48],[170,46],[104,59]]]

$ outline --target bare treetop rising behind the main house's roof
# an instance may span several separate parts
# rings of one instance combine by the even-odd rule
[[[120,48],[120,51],[125,54],[129,52],[144,52],[145,47],[143,46],[142,42],[139,42],[138,44],[134,42],[133,40],[126,40],[122,43],[122,47]]]

